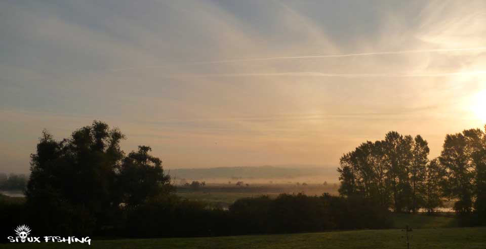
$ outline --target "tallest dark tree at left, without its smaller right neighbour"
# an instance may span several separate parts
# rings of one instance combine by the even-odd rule
[[[122,139],[124,136],[118,129],[110,130],[106,123],[96,120],[60,142],[43,131],[37,151],[31,155],[26,191],[28,205],[44,208],[42,217],[47,221],[39,223],[47,223],[50,229],[64,233],[70,231],[63,227],[85,229],[83,224],[74,225],[69,215],[72,212],[78,212],[87,222],[87,230],[94,223],[101,227],[110,222],[109,214],[119,203],[115,195],[115,170],[124,156],[119,148]],[[60,214],[65,214],[64,218]],[[58,224],[53,224],[54,221]]]

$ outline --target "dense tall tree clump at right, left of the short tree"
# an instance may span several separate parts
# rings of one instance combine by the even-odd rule
[[[429,148],[418,135],[389,132],[385,140],[362,143],[340,159],[343,196],[360,195],[395,212],[416,212],[423,196]]]

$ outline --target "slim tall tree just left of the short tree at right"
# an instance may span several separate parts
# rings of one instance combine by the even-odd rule
[[[410,167],[412,184],[412,212],[415,214],[423,203],[424,181],[426,178],[427,157],[430,149],[426,140],[420,135],[415,137],[413,147],[413,161]]]

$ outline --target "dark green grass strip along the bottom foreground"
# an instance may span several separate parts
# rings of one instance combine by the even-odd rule
[[[92,240],[91,246],[65,243],[9,243],[9,248],[227,248],[227,249],[304,249],[304,248],[406,248],[400,229],[356,230],[322,233],[252,235],[208,238],[162,238]],[[486,227],[414,229],[410,248],[486,248]]]

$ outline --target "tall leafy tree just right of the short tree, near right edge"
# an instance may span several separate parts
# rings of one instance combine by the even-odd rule
[[[474,165],[468,156],[466,137],[457,133],[447,135],[439,157],[440,164],[446,170],[442,187],[449,199],[458,199],[454,210],[460,214],[472,212]]]

